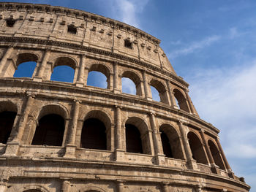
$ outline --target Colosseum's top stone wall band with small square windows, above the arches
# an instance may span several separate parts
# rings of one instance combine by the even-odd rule
[[[7,26],[7,20],[15,24]],[[46,4],[0,3],[0,36],[75,43],[118,53],[176,74],[160,40],[138,28],[89,12]],[[75,33],[69,31],[75,28]],[[125,41],[131,47],[125,46]]]

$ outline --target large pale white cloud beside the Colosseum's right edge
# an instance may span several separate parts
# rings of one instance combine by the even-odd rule
[[[194,74],[190,95],[200,117],[220,129],[226,155],[256,161],[256,61]]]

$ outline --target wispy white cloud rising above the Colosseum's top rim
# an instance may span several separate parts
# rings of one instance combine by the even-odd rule
[[[118,15],[118,20],[131,26],[139,27],[138,14],[143,12],[148,0],[114,0],[113,12]]]

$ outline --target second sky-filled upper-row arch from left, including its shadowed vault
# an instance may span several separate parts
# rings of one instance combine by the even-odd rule
[[[72,58],[57,58],[53,67],[50,80],[61,82],[73,82],[75,75],[75,61]]]

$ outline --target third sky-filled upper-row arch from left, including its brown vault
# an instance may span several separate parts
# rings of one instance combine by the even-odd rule
[[[87,85],[110,88],[110,70],[102,64],[93,64],[89,69]]]

